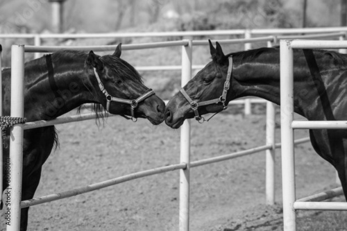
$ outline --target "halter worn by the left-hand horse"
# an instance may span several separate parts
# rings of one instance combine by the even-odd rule
[[[98,80],[99,83],[99,88],[101,92],[106,96],[106,110],[110,112],[110,103],[111,101],[114,102],[119,102],[119,103],[128,103],[130,104],[130,109],[131,109],[131,118],[125,117],[126,119],[131,119],[133,122],[137,121],[137,118],[135,117],[135,108],[137,108],[137,105],[139,105],[140,102],[144,101],[145,99],[149,98],[149,96],[152,96],[155,94],[152,89],[149,89],[149,92],[146,92],[142,96],[139,96],[137,99],[121,99],[117,97],[113,97],[108,92],[106,91],[103,83],[101,83],[99,74],[96,72],[96,69],[94,67],[94,74],[96,76],[96,80]]]

